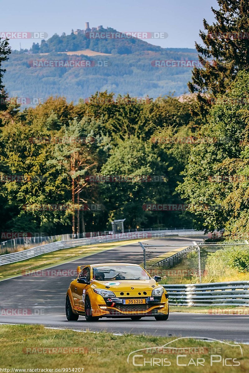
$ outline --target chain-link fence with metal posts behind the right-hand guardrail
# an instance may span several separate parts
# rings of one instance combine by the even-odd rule
[[[143,266],[162,283],[216,282],[237,280],[248,273],[249,242],[186,241],[181,244],[150,245],[141,243]]]

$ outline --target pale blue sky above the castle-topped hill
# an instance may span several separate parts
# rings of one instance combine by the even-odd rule
[[[103,25],[122,32],[166,32],[167,38],[146,40],[163,48],[194,48],[203,18],[214,21],[216,0],[0,0],[1,32],[62,32]],[[41,39],[11,39],[13,49],[30,48]]]

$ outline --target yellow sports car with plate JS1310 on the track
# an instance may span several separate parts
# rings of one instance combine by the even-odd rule
[[[169,317],[168,294],[158,285],[161,277],[151,278],[137,264],[104,263],[79,266],[78,278],[66,294],[66,318],[97,321],[100,317],[140,320]]]

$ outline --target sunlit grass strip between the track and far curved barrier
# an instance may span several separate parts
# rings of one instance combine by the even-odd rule
[[[143,240],[143,239],[142,239]],[[21,273],[25,270],[32,270],[32,269],[46,269],[49,267],[53,267],[54,265],[58,266],[59,264],[67,263],[71,260],[77,260],[80,258],[84,258],[89,255],[97,254],[105,250],[110,250],[115,247],[124,246],[128,244],[134,244],[141,239],[133,239],[127,241],[119,241],[119,242],[105,242],[102,244],[94,244],[94,245],[84,245],[79,247],[74,247],[71,249],[62,249],[53,251],[52,253],[47,253],[43,255],[39,255],[37,257],[19,261],[17,263],[12,264],[5,264],[4,266],[0,266],[0,281],[1,279],[6,279],[12,276],[21,275]],[[82,263],[82,265],[84,262]],[[87,264],[87,263],[86,263]],[[75,268],[76,269],[76,268]]]

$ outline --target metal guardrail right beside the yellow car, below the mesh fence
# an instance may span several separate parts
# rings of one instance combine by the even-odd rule
[[[249,281],[163,286],[169,305],[249,307]]]

